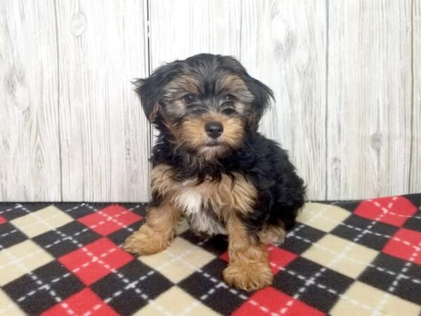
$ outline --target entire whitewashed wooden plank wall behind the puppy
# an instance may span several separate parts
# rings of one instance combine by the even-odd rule
[[[130,81],[202,52],[274,90],[309,199],[421,192],[418,0],[0,0],[0,201],[146,201]]]

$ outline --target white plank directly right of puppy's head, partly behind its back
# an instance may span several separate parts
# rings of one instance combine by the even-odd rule
[[[325,1],[243,1],[241,62],[274,90],[260,131],[290,152],[309,199],[326,197]]]

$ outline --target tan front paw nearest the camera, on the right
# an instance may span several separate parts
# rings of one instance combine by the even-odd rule
[[[272,284],[274,278],[267,263],[246,261],[230,263],[222,275],[227,284],[246,291],[263,289]]]

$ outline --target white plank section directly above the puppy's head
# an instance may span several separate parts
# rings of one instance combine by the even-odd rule
[[[197,53],[239,56],[241,0],[150,0],[152,69]]]

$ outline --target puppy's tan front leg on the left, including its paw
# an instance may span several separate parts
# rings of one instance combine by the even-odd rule
[[[132,254],[156,254],[168,247],[174,237],[180,211],[169,201],[147,210],[146,222],[129,236],[123,249]]]

